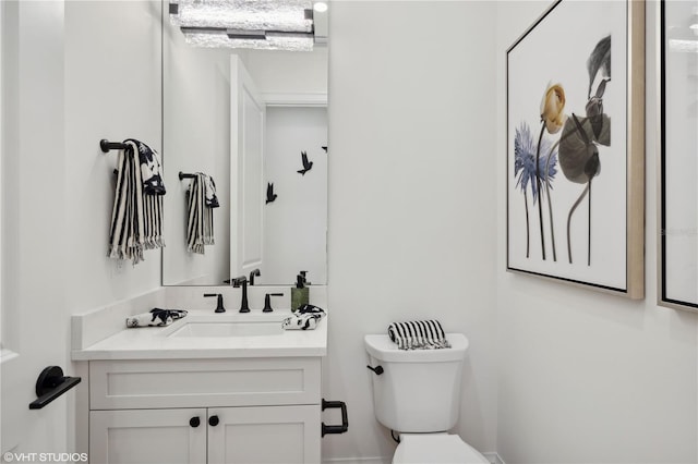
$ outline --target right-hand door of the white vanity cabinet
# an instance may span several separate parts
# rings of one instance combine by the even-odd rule
[[[208,427],[209,464],[320,463],[320,405],[219,407],[208,417],[217,423]]]

